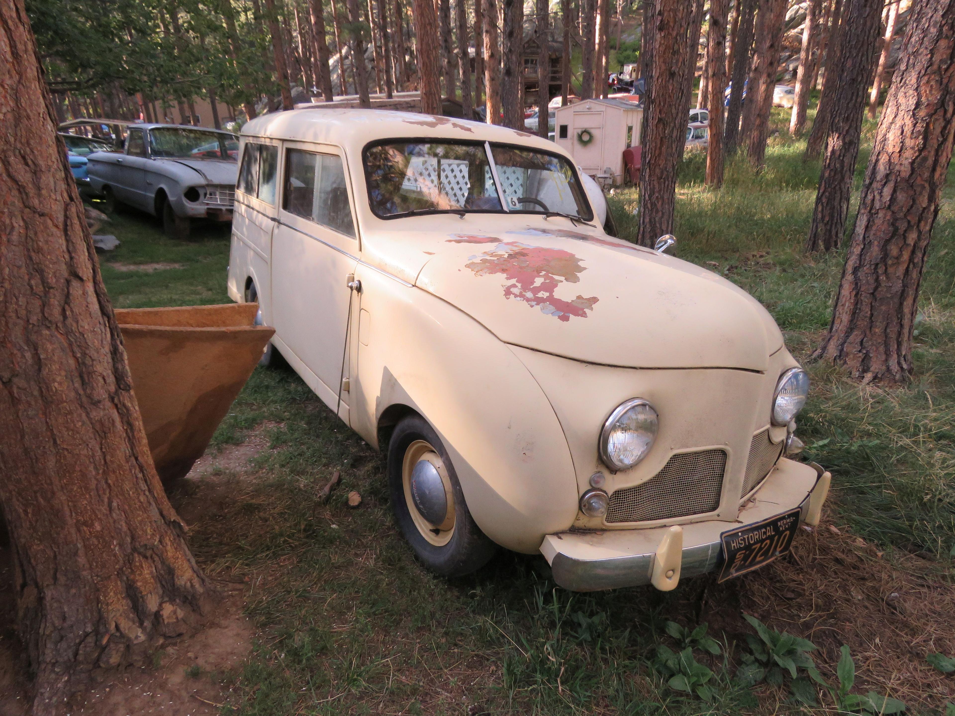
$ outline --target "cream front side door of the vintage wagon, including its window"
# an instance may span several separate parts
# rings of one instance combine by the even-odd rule
[[[348,421],[341,389],[358,239],[346,164],[328,145],[286,142],[283,151],[272,239],[274,326],[309,387]]]

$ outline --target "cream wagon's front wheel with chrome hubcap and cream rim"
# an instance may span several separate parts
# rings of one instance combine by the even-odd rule
[[[398,529],[428,569],[460,577],[494,555],[495,544],[471,516],[441,439],[420,415],[404,418],[392,433],[388,481]]]

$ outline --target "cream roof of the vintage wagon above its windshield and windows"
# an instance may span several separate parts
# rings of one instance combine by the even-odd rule
[[[548,140],[519,130],[450,116],[418,115],[393,110],[315,108],[273,112],[246,122],[243,137],[315,141],[343,147],[363,147],[379,139],[471,139],[521,144],[561,154]]]

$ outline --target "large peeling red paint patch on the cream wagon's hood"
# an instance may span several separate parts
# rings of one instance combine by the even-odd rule
[[[449,239],[456,243],[497,243],[490,251],[469,257],[465,267],[475,276],[503,275],[504,298],[523,301],[532,307],[541,308],[541,313],[554,316],[566,323],[571,316],[586,318],[600,301],[596,296],[584,298],[580,294],[572,301],[557,298],[554,294],[561,284],[576,284],[581,271],[586,268],[581,260],[569,251],[559,248],[531,246],[520,242],[501,242],[496,237],[459,235]]]

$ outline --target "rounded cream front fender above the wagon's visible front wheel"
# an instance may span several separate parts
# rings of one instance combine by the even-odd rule
[[[477,526],[508,549],[536,553],[544,535],[573,524],[578,504],[570,450],[540,386],[454,306],[361,264],[356,277],[351,427],[377,445],[386,410],[419,412],[441,436]]]

